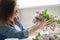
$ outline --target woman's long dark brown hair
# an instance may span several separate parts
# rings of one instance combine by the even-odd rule
[[[16,0],[1,0],[0,1],[0,21],[6,25],[9,23],[10,17],[14,14]]]

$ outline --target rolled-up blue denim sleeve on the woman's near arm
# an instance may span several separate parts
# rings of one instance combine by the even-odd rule
[[[23,30],[23,31],[17,31],[14,28],[8,28],[9,30],[5,30],[6,32],[3,33],[4,36],[6,36],[7,38],[19,38],[19,39],[23,39],[23,38],[27,38],[28,35],[28,31],[27,30]]]

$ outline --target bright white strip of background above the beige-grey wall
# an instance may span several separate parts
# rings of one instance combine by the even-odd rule
[[[60,4],[60,0],[17,0],[19,8]]]

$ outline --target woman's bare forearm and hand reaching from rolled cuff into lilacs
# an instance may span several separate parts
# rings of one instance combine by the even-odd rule
[[[44,21],[44,22],[38,22],[36,25],[32,26],[28,29],[29,35],[33,34],[36,30],[40,29],[43,26],[46,26],[47,24],[51,24],[50,20]]]

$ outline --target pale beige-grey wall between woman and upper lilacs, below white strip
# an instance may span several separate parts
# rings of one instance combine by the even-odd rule
[[[35,12],[37,10],[42,11],[46,8],[48,9],[49,14],[60,16],[60,5],[19,9],[19,17],[24,27],[28,28],[32,26],[33,25],[32,19],[36,15]]]

